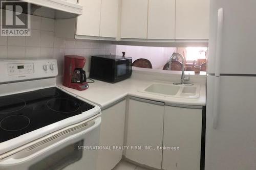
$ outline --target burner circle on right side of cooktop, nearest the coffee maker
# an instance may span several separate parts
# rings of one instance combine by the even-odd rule
[[[49,100],[47,107],[59,113],[72,113],[80,108],[80,104],[71,99],[57,98]]]

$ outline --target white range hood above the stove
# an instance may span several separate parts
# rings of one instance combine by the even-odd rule
[[[19,0],[31,5],[31,15],[53,19],[75,18],[82,14],[77,0]]]

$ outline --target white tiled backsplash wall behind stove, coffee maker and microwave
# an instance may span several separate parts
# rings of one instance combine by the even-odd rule
[[[89,71],[91,55],[116,53],[116,45],[109,41],[57,38],[54,27],[54,19],[31,16],[31,36],[0,36],[0,59],[55,58],[62,75],[64,55],[87,57],[85,69]]]

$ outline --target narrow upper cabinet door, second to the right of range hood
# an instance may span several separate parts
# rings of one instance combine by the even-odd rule
[[[117,37],[119,0],[102,0],[100,37]]]

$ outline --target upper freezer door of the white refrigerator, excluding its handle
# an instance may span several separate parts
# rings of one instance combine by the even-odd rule
[[[211,1],[208,72],[215,73],[218,9],[223,8],[221,74],[256,74],[256,1]]]

